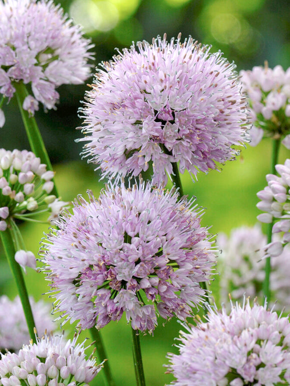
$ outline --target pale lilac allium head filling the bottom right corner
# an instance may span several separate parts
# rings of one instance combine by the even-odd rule
[[[290,382],[290,323],[247,300],[181,332],[179,355],[168,354],[175,386],[277,385]]]

